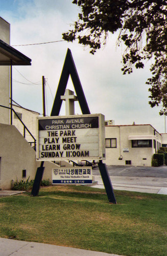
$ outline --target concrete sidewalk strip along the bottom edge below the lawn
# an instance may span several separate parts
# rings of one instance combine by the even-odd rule
[[[118,256],[105,252],[5,238],[0,238],[0,248],[0,256]]]

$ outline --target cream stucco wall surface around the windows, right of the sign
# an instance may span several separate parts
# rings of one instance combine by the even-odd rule
[[[107,165],[125,165],[126,160],[134,166],[151,166],[152,155],[155,153],[154,139],[161,143],[161,135],[151,125],[120,125],[106,126],[106,138],[116,138],[116,148],[106,148]],[[129,136],[151,136],[152,147],[132,147]],[[157,143],[157,142],[156,142]],[[127,148],[128,152],[124,152]],[[122,156],[122,160],[118,158]]]

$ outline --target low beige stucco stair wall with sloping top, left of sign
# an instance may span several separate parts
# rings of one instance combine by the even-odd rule
[[[14,125],[0,124],[0,188],[11,189],[11,181],[22,180],[22,170],[26,169],[27,180],[35,178],[40,162],[36,161],[36,152]],[[52,180],[54,163],[45,162],[43,179]]]

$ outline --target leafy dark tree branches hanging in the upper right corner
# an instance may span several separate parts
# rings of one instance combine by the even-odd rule
[[[63,39],[90,47],[94,54],[106,44],[108,33],[119,32],[117,45],[126,46],[123,74],[144,68],[152,59],[151,107],[162,104],[160,115],[167,114],[167,2],[166,0],[74,0],[81,8],[74,28]]]

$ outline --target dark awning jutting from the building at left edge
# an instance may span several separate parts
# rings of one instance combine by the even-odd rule
[[[0,66],[30,66],[31,59],[0,39]]]

